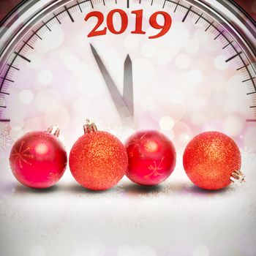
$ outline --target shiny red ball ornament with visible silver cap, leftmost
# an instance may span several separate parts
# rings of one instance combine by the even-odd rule
[[[67,152],[58,140],[59,128],[28,132],[10,152],[12,173],[26,187],[43,189],[56,184],[67,165]]]

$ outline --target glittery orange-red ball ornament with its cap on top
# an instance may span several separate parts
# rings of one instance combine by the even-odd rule
[[[89,120],[84,132],[69,154],[72,176],[87,189],[110,189],[127,170],[127,151],[118,138],[109,132],[98,131]]]

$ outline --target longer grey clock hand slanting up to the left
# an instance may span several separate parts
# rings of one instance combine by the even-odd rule
[[[90,44],[91,45],[91,44]],[[118,110],[119,115],[124,120],[125,118],[133,118],[133,113],[129,111],[127,108],[126,103],[124,102],[123,97],[121,96],[120,92],[118,91],[116,84],[114,83],[113,79],[110,77],[108,70],[106,69],[105,65],[103,64],[102,60],[95,50],[94,46],[91,45],[91,51],[94,54],[94,58],[98,64],[99,70],[102,73],[102,77],[105,80],[106,85],[108,86],[108,91],[113,99],[113,102],[116,105],[116,109]]]

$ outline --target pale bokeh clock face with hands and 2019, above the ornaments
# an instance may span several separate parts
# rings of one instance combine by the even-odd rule
[[[219,20],[189,1],[53,7],[1,70],[10,139],[59,124],[71,146],[91,118],[122,140],[160,129],[180,152],[206,130],[255,148],[254,69]]]

